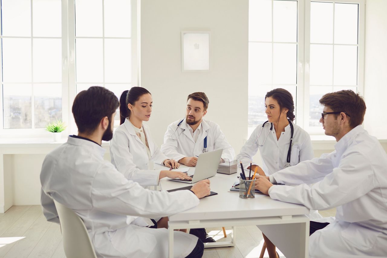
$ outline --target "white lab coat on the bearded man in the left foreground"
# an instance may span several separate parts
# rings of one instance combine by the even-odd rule
[[[46,219],[59,222],[54,199],[80,216],[98,257],[167,257],[167,229],[136,226],[127,215],[165,217],[197,206],[199,199],[188,190],[144,189],[104,161],[104,152],[94,142],[69,137],[46,156],[40,174]],[[175,256],[187,256],[197,237],[174,235]]]

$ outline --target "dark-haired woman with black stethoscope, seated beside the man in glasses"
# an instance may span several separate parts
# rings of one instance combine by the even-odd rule
[[[236,156],[238,164],[241,161],[245,169],[250,169],[250,162],[259,149],[262,169],[254,162],[251,169],[254,171],[257,167],[257,173],[270,176],[288,166],[313,159],[314,154],[309,134],[293,123],[295,120],[294,110],[293,96],[290,92],[281,88],[267,92],[265,113],[268,121],[265,125],[260,124],[255,128]],[[293,137],[291,136],[292,129]],[[289,146],[290,144],[291,146]],[[311,210],[311,220],[320,218],[322,216],[317,210]],[[264,239],[264,248],[262,248],[260,257],[263,257],[265,248],[267,248],[270,258],[279,257],[276,253],[276,246],[265,235]]]

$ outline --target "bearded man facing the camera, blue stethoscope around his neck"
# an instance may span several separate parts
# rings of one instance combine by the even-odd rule
[[[197,156],[203,152],[223,149],[222,158],[233,160],[235,151],[219,125],[203,119],[209,100],[204,92],[188,95],[185,118],[168,126],[161,151],[186,166],[196,166]]]

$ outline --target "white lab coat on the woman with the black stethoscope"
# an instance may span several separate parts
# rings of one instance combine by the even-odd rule
[[[273,125],[273,129],[270,132],[270,123],[262,128],[262,124],[258,125],[257,128],[250,135],[250,138],[247,140],[245,145],[243,145],[240,153],[236,156],[238,164],[241,161],[243,168],[247,169],[250,166],[250,161],[253,160],[253,156],[257,154],[259,149],[259,154],[262,159],[262,170],[267,176],[276,173],[277,171],[284,168],[286,164],[286,159],[288,157],[289,144],[291,138],[291,128],[290,124],[285,127],[285,132],[281,133],[281,136],[277,140],[276,130]],[[261,131],[262,133],[259,136],[259,144],[263,144],[267,134],[266,142],[263,146],[259,146],[257,143],[257,137]],[[313,147],[312,142],[310,141],[309,134],[303,130],[300,126],[293,124],[293,141],[290,153],[290,165],[295,166],[301,161],[307,161],[313,159]],[[253,164],[256,164],[253,162]],[[311,220],[325,222],[321,220],[322,216],[317,210],[310,210],[308,217]]]

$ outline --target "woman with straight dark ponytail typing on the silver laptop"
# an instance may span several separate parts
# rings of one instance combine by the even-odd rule
[[[168,159],[154,142],[149,127],[143,121],[149,121],[152,113],[152,95],[142,87],[132,87],[120,97],[120,126],[110,141],[111,163],[127,179],[140,185],[157,186],[159,179],[180,178],[192,180],[179,171],[153,170],[149,163],[178,168],[179,163]],[[157,220],[156,220],[157,221]]]

